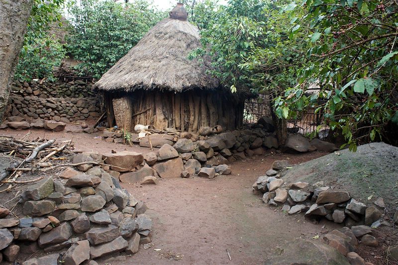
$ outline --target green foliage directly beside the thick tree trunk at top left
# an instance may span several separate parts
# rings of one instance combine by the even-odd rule
[[[49,31],[52,23],[59,22],[59,10],[63,2],[64,0],[33,1],[15,79],[54,79],[53,67],[60,65],[66,50],[59,40],[50,36]]]

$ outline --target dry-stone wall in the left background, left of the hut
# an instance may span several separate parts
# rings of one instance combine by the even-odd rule
[[[92,90],[93,83],[83,80],[54,83],[16,81],[8,99],[8,116],[25,119],[75,121],[100,116],[100,96]]]

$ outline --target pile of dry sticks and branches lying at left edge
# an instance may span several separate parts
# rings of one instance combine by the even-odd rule
[[[0,182],[9,183],[7,191],[11,190],[12,184],[35,182],[45,177],[17,180],[24,172],[46,172],[65,166],[60,161],[68,160],[68,156],[74,154],[72,140],[55,144],[54,139],[37,139],[31,142],[10,136],[0,136],[0,152],[9,158],[18,158],[0,174]]]

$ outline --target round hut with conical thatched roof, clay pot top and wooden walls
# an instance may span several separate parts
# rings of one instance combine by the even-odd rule
[[[243,101],[207,72],[208,58],[189,60],[199,48],[197,27],[187,21],[182,3],[158,22],[94,88],[105,96],[109,125],[130,129],[134,124],[157,129],[197,131],[201,126],[241,124]],[[232,111],[231,111],[232,109]]]

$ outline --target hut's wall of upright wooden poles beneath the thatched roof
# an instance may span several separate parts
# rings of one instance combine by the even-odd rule
[[[113,112],[111,97],[109,94],[105,98],[109,119],[112,119]],[[243,122],[244,101],[227,92],[139,90],[129,93],[127,97],[132,108],[131,130],[136,124],[153,125],[156,129],[172,127],[190,132],[197,132],[202,126],[215,125],[231,130],[240,127]]]

